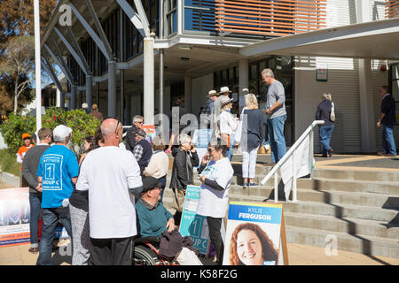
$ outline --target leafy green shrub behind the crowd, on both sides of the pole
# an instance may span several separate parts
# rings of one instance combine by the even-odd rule
[[[42,126],[50,127],[53,130],[59,125],[69,126],[73,130],[71,142],[79,148],[74,150],[75,153],[79,153],[77,151],[82,149],[86,136],[94,135],[100,122],[83,110],[65,111],[57,107],[47,109],[42,116]],[[0,131],[3,134],[4,142],[8,145],[9,152],[16,153],[23,145],[22,134],[36,132],[36,118],[35,116],[12,113],[8,121],[0,127]]]

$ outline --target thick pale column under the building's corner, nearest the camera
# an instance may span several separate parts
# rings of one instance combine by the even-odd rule
[[[155,34],[152,34],[155,35]],[[153,124],[154,119],[154,65],[153,36],[144,39],[144,122]]]

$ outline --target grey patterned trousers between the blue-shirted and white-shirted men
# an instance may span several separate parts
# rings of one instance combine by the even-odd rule
[[[89,213],[69,203],[72,234],[72,265],[88,265],[90,258]]]

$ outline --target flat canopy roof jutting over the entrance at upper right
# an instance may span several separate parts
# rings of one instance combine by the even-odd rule
[[[245,57],[287,56],[399,59],[399,19],[385,19],[278,37],[243,47]]]

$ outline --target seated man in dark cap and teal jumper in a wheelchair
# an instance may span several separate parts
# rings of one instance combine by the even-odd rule
[[[176,257],[178,264],[198,264],[198,251],[192,247],[192,240],[182,237],[176,231],[173,215],[160,202],[162,184],[154,177],[143,177],[143,191],[136,203],[137,228],[140,238],[136,243],[150,242],[157,254]],[[195,250],[195,252],[193,251]]]

